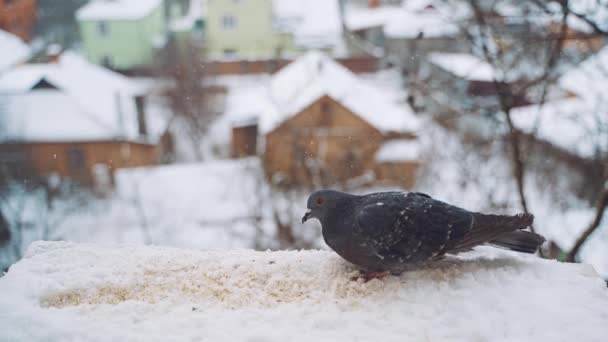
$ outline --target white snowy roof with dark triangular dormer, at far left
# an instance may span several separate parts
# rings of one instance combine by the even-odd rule
[[[72,52],[56,63],[24,64],[0,76],[0,138],[139,139],[136,95],[140,89],[128,78]]]

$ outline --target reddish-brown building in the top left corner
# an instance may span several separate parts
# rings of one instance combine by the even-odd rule
[[[29,41],[36,24],[36,0],[0,1],[0,29]]]

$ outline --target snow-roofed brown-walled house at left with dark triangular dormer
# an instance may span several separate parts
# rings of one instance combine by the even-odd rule
[[[109,187],[121,167],[155,165],[166,121],[139,87],[71,52],[0,76],[0,159],[19,178]]]

